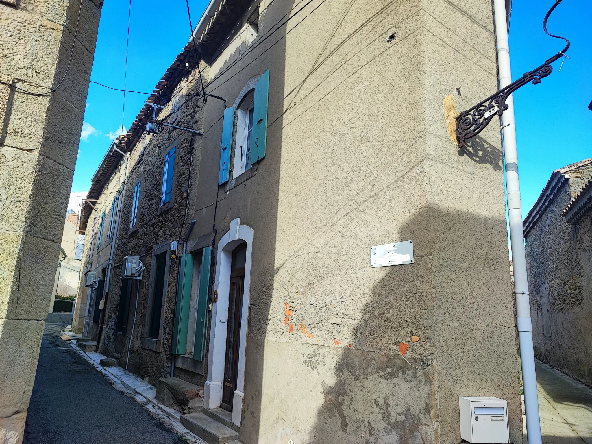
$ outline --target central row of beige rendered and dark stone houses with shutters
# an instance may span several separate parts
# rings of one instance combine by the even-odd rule
[[[460,395],[507,400],[522,442],[500,135],[459,155],[442,104],[497,89],[491,4],[213,0],[194,36],[114,146],[99,350],[203,384],[184,424],[246,444],[459,443]],[[147,134],[150,104],[203,136]],[[83,209],[87,250],[102,211]],[[413,262],[371,267],[394,242]]]

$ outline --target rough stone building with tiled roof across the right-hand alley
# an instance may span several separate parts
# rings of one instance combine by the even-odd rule
[[[557,169],[524,220],[535,356],[592,385],[592,159]]]

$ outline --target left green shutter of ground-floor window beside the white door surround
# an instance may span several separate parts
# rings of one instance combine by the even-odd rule
[[[179,265],[173,346],[171,350],[175,355],[185,355],[187,352],[187,327],[189,324],[189,304],[191,304],[192,276],[193,256],[191,253],[186,253],[181,256],[181,264]]]

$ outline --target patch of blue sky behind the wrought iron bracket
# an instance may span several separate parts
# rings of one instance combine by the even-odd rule
[[[551,0],[513,0],[510,22],[512,79],[562,50],[565,41],[545,34]],[[525,217],[554,169],[592,157],[592,2],[564,0],[547,23],[549,33],[571,46],[539,85],[514,93],[522,216]]]

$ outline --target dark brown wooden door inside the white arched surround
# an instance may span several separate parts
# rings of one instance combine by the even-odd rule
[[[244,268],[242,275],[230,278],[230,293],[228,304],[228,330],[226,333],[226,361],[224,367],[224,387],[222,392],[221,407],[232,411],[234,391],[236,390],[236,378],[239,371],[239,345],[240,345],[240,315],[243,305],[243,282]]]

